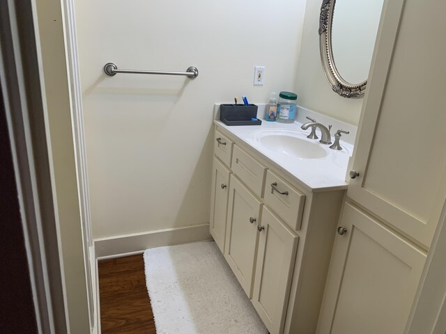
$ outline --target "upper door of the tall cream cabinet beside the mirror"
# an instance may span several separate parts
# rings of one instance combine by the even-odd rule
[[[426,50],[436,50],[438,61],[444,52],[435,38],[425,38],[436,19],[416,22],[438,3],[385,2],[355,145],[359,176],[351,180],[348,197],[429,247],[446,199],[446,113],[445,71],[434,58],[426,61]],[[413,40],[423,40],[423,47],[414,48]]]

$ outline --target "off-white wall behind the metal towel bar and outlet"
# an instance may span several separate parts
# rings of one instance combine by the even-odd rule
[[[305,0],[77,0],[75,10],[93,236],[207,223],[213,104],[294,89]],[[194,65],[199,77],[107,77],[109,61]],[[263,87],[252,86],[255,65],[266,66]]]

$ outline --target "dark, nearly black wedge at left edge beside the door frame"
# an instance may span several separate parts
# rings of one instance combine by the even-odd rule
[[[0,228],[0,333],[38,333],[1,89]]]

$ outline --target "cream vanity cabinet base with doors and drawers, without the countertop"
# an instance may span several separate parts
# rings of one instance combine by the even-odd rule
[[[214,140],[210,233],[271,334],[314,333],[345,190],[306,188],[219,125]]]

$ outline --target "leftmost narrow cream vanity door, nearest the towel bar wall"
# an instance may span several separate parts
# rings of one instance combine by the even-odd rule
[[[216,158],[213,163],[212,192],[210,195],[210,234],[224,253],[226,212],[228,209],[229,175],[231,171]]]

